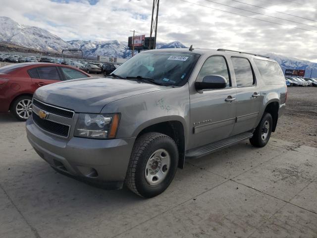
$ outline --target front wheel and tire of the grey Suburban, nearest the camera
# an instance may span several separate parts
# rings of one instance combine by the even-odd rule
[[[134,143],[124,182],[134,193],[145,198],[154,197],[169,186],[177,166],[175,141],[161,133],[145,133]]]

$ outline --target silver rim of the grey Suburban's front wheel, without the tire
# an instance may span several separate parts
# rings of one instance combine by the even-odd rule
[[[168,174],[170,155],[164,149],[156,150],[148,159],[145,167],[145,179],[150,185],[157,185]]]

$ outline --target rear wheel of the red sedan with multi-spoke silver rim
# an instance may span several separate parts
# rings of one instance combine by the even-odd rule
[[[16,119],[26,121],[32,114],[32,96],[24,95],[16,98],[10,112]]]

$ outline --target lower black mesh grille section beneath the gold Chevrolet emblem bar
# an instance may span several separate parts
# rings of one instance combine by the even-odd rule
[[[46,120],[46,119],[41,119],[35,113],[32,113],[32,117],[33,117],[33,121],[43,130],[59,135],[59,136],[68,137],[70,126],[59,124],[57,122]]]

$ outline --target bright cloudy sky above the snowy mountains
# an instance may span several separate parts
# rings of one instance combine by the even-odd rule
[[[150,36],[153,0],[0,0],[0,5],[0,16],[66,41],[127,42],[130,30]],[[317,1],[159,0],[157,41],[317,62]]]

